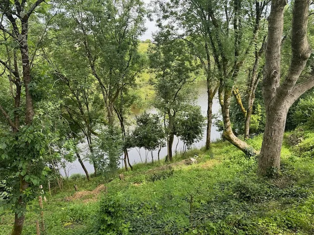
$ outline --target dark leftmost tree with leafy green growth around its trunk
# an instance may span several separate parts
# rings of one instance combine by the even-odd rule
[[[0,105],[8,127],[1,135],[1,160],[6,161],[5,172],[19,178],[20,187],[15,191],[11,204],[14,204],[15,222],[12,235],[21,235],[26,204],[32,199],[27,196],[34,186],[38,186],[44,164],[41,156],[45,152],[46,143],[43,127],[34,121],[33,83],[34,70],[31,69],[28,23],[36,8],[44,0],[0,2],[1,37],[5,45],[14,45],[5,53],[6,59],[0,60],[4,73],[8,74],[12,85],[12,102],[6,107]],[[21,69],[23,72],[21,72]],[[23,94],[22,94],[23,93]],[[25,97],[25,101],[22,98]],[[3,123],[3,122],[2,122]],[[2,172],[2,171],[1,171]]]

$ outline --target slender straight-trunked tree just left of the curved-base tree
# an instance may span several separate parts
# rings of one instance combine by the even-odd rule
[[[215,78],[215,66],[210,51],[211,27],[209,24],[208,1],[204,0],[169,0],[156,1],[159,5],[161,16],[158,23],[167,19],[173,29],[175,37],[184,40],[187,46],[186,53],[194,55],[202,65],[207,80],[208,112],[207,112],[207,136],[206,148],[210,147],[210,133],[212,126],[212,104],[217,93],[219,82]]]

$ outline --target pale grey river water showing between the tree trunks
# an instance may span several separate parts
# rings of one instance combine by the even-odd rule
[[[207,85],[206,82],[198,82],[196,83],[197,86],[197,91],[198,91],[198,99],[197,99],[197,105],[201,106],[202,109],[202,113],[203,116],[206,117],[207,115],[207,105],[208,105],[208,101],[207,101]],[[214,98],[213,100],[213,107],[212,107],[212,111],[213,114],[219,114],[219,110],[220,110],[220,104],[219,104],[219,100],[218,98]],[[152,110],[150,111],[152,113],[155,113],[156,111]],[[220,139],[221,137],[221,133],[217,131],[217,128],[215,126],[212,126],[211,128],[211,140],[215,141],[217,139]],[[176,145],[178,143],[178,138],[175,137],[174,140],[174,144],[173,144],[173,154],[175,154],[175,148]],[[206,126],[204,127],[204,135],[203,135],[203,139],[197,143],[195,143],[192,147],[195,148],[201,148],[203,146],[205,146],[206,144]],[[82,145],[82,148],[86,148],[85,146]],[[179,141],[178,144],[178,152],[180,153],[180,150],[183,148],[183,142]],[[129,150],[129,157],[130,157],[130,162],[131,164],[134,163],[141,163],[141,158],[139,155],[139,151],[141,153],[141,158],[142,161],[145,162],[145,150],[144,149],[130,149]],[[87,152],[87,151],[85,151]],[[154,156],[154,161],[157,161],[157,154],[158,151],[154,151],[153,152],[153,156]],[[167,155],[167,147],[164,147],[161,149],[160,151],[160,158],[164,158]],[[84,157],[84,151],[81,153],[81,157]],[[151,157],[151,153],[148,154],[148,161],[151,162],[152,161],[152,157]],[[89,173],[94,172],[94,167],[89,164],[88,162],[84,162],[85,167],[87,168]],[[121,166],[123,164],[123,161],[121,161]],[[81,167],[81,165],[78,163],[78,161],[75,161],[74,163],[70,163],[67,165],[67,172],[69,173],[69,175],[73,174],[73,173],[82,173],[84,174],[84,171]]]

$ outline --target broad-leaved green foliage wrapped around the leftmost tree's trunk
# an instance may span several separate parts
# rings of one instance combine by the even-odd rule
[[[11,190],[6,201],[0,202],[4,208],[16,211],[19,216],[26,212],[17,200],[21,196],[27,203],[39,192],[39,185],[45,180],[50,169],[45,165],[47,133],[40,125],[24,126],[18,133],[0,133],[0,179],[6,180]],[[20,181],[29,186],[20,192]]]

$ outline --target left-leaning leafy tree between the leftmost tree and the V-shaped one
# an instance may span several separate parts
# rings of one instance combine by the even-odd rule
[[[66,127],[68,136],[80,141],[82,139],[80,133],[84,135],[90,152],[90,162],[94,165],[94,172],[97,175],[97,163],[93,159],[93,142],[98,136],[96,129],[105,124],[101,91],[90,74],[86,58],[76,56],[78,47],[58,33],[51,30],[52,39],[47,40],[49,45],[42,44],[42,50],[55,79],[54,93],[62,100],[60,104],[62,117],[69,123]],[[56,39],[53,39],[53,36],[57,36]],[[79,153],[77,156],[80,157]],[[82,168],[85,168],[79,158],[78,161]]]

